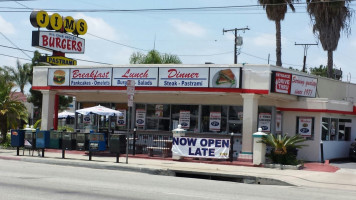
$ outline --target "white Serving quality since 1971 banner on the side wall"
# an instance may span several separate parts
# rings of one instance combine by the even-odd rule
[[[315,97],[317,85],[317,78],[292,75],[290,94],[304,97]]]

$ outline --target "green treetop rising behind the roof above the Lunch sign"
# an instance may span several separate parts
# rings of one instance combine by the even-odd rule
[[[156,50],[151,50],[147,55],[136,52],[130,56],[131,64],[181,64],[178,56],[172,54],[160,54]]]

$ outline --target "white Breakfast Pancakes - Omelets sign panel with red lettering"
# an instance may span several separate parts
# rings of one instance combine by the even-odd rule
[[[112,68],[71,69],[71,86],[111,86]]]

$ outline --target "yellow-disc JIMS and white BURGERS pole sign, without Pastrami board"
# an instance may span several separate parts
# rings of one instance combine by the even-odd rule
[[[32,46],[62,53],[84,53],[85,40],[78,37],[88,30],[84,19],[33,11],[30,21],[33,27],[38,28],[38,31],[32,32]],[[49,31],[41,31],[40,28],[47,28]]]

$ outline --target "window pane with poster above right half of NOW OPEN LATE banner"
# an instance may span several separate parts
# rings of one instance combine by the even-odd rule
[[[227,133],[227,106],[202,106],[202,132]]]

